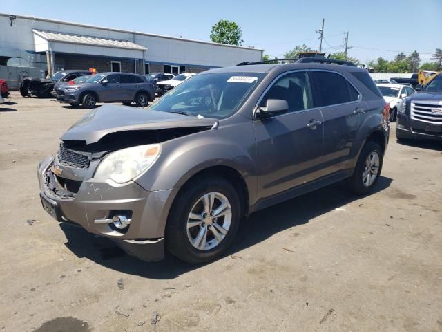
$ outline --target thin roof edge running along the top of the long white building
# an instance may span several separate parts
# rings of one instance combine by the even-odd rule
[[[8,17],[10,13],[6,12],[0,12],[1,16]],[[115,28],[106,28],[103,26],[93,26],[90,24],[80,24],[75,22],[68,22],[68,21],[60,21],[56,19],[45,19],[43,17],[35,17],[35,16],[28,16],[28,15],[15,15],[17,18],[21,19],[32,19],[32,20],[38,20],[38,21],[46,21],[46,22],[52,22],[52,23],[59,23],[59,24],[70,24],[71,26],[81,26],[85,28],[97,28],[97,29],[103,29],[108,31],[117,31],[120,33],[134,33],[137,35],[144,35],[144,36],[151,36],[151,37],[159,37],[159,38],[167,38],[167,39],[176,39],[176,40],[182,40],[184,42],[194,42],[194,43],[200,43],[200,44],[211,44],[211,45],[218,45],[218,46],[224,46],[224,47],[232,47],[232,48],[242,48],[246,50],[258,50],[260,52],[263,52],[264,50],[262,48],[254,48],[254,47],[247,47],[247,46],[236,46],[236,45],[228,45],[228,44],[220,44],[220,43],[213,43],[213,42],[205,42],[198,39],[188,39],[188,38],[182,38],[182,37],[172,37],[172,36],[165,36],[165,35],[157,35],[154,33],[142,33],[139,31],[129,31],[129,30],[122,30],[122,29],[115,29]]]

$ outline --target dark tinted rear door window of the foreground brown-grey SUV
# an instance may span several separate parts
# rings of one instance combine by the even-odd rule
[[[339,74],[326,71],[311,73],[315,81],[316,103],[318,107],[350,102],[347,80]]]

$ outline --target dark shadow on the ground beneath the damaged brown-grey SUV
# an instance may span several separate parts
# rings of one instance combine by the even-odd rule
[[[376,190],[371,195],[385,190],[391,183],[391,178],[381,176]],[[243,257],[236,255],[241,250],[265,241],[278,232],[289,228],[296,230],[296,226],[308,223],[316,216],[340,208],[357,199],[361,199],[361,196],[351,194],[344,183],[336,183],[260,210],[258,213],[251,214],[249,219],[242,221],[233,246],[227,250],[223,257],[230,256],[232,259],[241,259]],[[85,257],[122,273],[149,279],[175,279],[184,273],[206,265],[186,264],[169,252],[166,252],[166,257],[162,261],[141,261],[127,255],[110,239],[90,234],[83,228],[66,223],[61,223],[60,228],[68,240],[65,246],[77,257]]]

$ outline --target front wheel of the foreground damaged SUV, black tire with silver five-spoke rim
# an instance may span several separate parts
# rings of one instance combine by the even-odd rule
[[[210,216],[211,209],[204,210],[204,196],[212,197],[212,206],[215,207],[213,211],[224,201],[226,214],[218,214],[218,219]],[[229,181],[223,178],[200,178],[188,183],[171,207],[166,225],[166,248],[177,258],[191,264],[205,263],[220,257],[238,232],[240,210],[238,192]],[[204,211],[209,214],[205,216]],[[195,218],[191,218],[191,213]],[[204,237],[199,237],[201,234],[205,234]]]

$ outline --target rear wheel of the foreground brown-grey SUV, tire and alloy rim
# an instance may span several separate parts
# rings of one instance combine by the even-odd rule
[[[382,163],[383,152],[381,147],[378,143],[369,140],[365,143],[353,175],[349,178],[349,187],[352,192],[358,195],[366,195],[372,192],[381,176]]]

